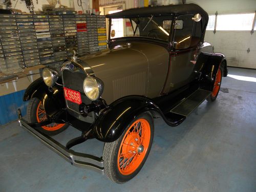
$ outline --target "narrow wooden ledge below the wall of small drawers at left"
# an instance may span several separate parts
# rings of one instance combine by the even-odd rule
[[[29,74],[29,72],[34,71],[34,70],[38,70],[38,69],[42,69],[42,68],[45,68],[45,67],[46,66],[44,66],[44,65],[29,67],[29,68],[24,69],[23,72],[14,73],[14,74],[9,75],[7,77],[3,77],[5,74],[0,72],[0,83],[10,82],[10,81],[16,80],[18,78],[23,78],[23,77],[33,75],[33,74]]]

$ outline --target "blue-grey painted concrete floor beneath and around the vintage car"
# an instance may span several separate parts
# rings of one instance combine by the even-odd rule
[[[256,78],[256,70],[229,68]],[[256,191],[256,82],[223,78],[214,103],[204,101],[181,125],[155,121],[155,138],[141,172],[115,184],[71,166],[16,122],[0,127],[0,191]],[[55,136],[63,143],[75,129]],[[74,150],[100,156],[90,140]]]

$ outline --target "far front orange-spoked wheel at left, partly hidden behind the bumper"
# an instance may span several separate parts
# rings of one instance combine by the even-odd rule
[[[27,107],[27,119],[30,123],[47,120],[47,115],[42,102],[37,98],[32,98]],[[40,132],[47,135],[56,135],[68,128],[69,124],[51,123],[45,126],[37,127]]]

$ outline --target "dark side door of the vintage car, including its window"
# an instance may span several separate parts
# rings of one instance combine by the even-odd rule
[[[173,49],[169,52],[169,68],[162,93],[172,92],[195,78],[195,55],[200,37],[193,35],[193,15],[180,15],[174,27]]]

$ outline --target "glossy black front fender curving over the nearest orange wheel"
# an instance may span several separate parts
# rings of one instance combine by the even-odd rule
[[[153,117],[160,115],[170,126],[177,126],[184,120],[168,121],[159,107],[147,97],[126,96],[114,101],[100,113],[92,125],[91,137],[103,142],[113,142],[142,113],[150,113]]]

